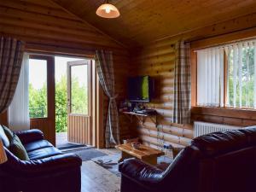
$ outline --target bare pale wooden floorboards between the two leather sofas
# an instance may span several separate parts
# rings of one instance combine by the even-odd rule
[[[81,167],[82,192],[116,192],[120,191],[120,177],[107,169],[87,160]]]

